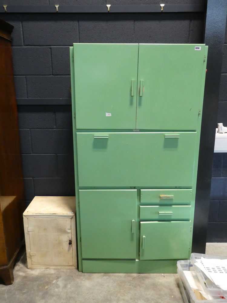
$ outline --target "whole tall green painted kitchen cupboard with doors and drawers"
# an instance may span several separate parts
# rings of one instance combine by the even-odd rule
[[[207,52],[70,47],[79,271],[169,273],[189,258]]]

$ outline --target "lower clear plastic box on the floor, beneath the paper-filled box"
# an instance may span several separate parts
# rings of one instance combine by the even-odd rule
[[[177,273],[179,275],[179,287],[184,303],[227,303],[227,299],[207,295],[205,292],[203,292],[202,286],[199,285],[199,282],[192,280],[190,281],[190,274],[193,278],[195,278],[195,280],[197,277],[190,260],[177,261]],[[196,284],[195,286],[193,285],[194,288],[189,285],[189,281],[191,285],[193,283]],[[204,295],[208,299],[203,297]]]

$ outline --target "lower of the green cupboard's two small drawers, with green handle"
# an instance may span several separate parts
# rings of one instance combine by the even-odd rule
[[[140,206],[140,220],[189,220],[191,205]]]

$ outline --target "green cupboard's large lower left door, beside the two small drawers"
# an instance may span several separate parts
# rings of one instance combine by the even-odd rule
[[[135,259],[137,191],[79,190],[83,259]]]

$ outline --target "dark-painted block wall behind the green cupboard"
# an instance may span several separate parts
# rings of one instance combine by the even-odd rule
[[[4,2],[4,3],[3,3]],[[200,0],[202,3],[203,1]],[[109,3],[109,2],[108,2]],[[111,0],[111,4],[159,4],[157,0]],[[198,0],[166,0],[166,4]],[[0,0],[0,5],[18,5]],[[20,5],[54,5],[21,0]],[[58,4],[106,4],[105,0],[59,0]],[[74,195],[69,46],[89,43],[202,43],[202,13],[0,14],[12,33],[15,89],[27,204],[35,195]],[[227,41],[227,38],[226,38]],[[227,124],[227,45],[218,121]],[[225,55],[226,54],[226,55]],[[48,101],[53,105],[45,105]],[[24,105],[28,101],[29,105]],[[21,105],[23,103],[23,105]],[[31,104],[35,105],[31,105]],[[67,105],[62,105],[67,104]],[[213,165],[208,241],[224,241],[227,230],[227,160]],[[91,172],[92,173],[92,172]]]

